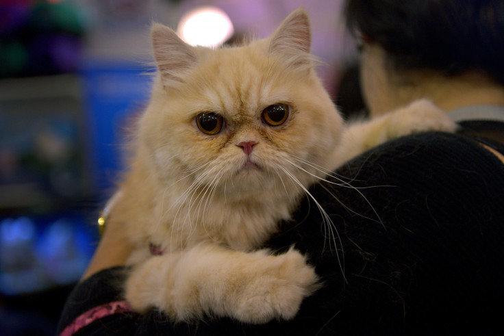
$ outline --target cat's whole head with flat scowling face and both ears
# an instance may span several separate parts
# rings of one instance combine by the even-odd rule
[[[218,50],[153,27],[160,76],[140,141],[160,179],[240,200],[298,192],[323,175],[314,166],[333,168],[342,119],[312,68],[301,14],[266,40]]]

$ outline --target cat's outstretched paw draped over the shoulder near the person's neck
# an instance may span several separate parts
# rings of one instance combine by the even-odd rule
[[[403,135],[425,131],[454,132],[457,124],[446,112],[427,99],[420,99],[396,109],[390,114],[388,138],[399,138]]]

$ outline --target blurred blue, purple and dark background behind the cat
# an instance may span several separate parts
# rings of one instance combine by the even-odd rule
[[[150,23],[218,47],[268,36],[301,5],[327,90],[362,109],[341,0],[0,0],[0,335],[53,335],[90,261],[148,99]]]

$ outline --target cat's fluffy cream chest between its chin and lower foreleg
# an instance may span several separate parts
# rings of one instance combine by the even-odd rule
[[[259,172],[243,172],[255,173]],[[187,197],[180,192],[177,197],[172,187],[168,200],[164,192],[159,192],[151,223],[146,222],[143,228],[147,232],[144,246],[152,243],[168,251],[201,242],[214,242],[234,250],[260,246],[276,231],[279,220],[290,217],[301,191],[289,198],[273,190],[248,192],[248,196],[235,199],[230,199],[229,193],[223,197],[226,194],[218,191],[211,198],[205,191],[196,193],[200,196]],[[182,203],[178,201],[181,198],[185,200]]]

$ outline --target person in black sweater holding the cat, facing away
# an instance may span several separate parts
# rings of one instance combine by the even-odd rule
[[[174,324],[156,311],[129,311],[118,289],[129,247],[116,239],[121,223],[112,216],[58,332],[70,335],[84,316],[75,335],[497,333],[504,297],[503,12],[501,0],[346,1],[347,25],[362,40],[370,115],[426,97],[462,131],[392,140],[336,171],[354,188],[311,188],[338,231],[336,244],[310,198],[266,243],[275,251],[295,244],[320,276],[322,287],[296,318]]]

